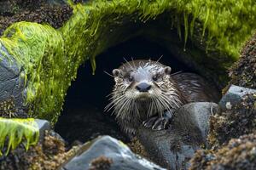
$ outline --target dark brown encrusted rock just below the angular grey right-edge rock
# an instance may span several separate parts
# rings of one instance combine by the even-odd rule
[[[219,145],[256,130],[256,94],[247,94],[233,109],[210,118],[209,142]]]

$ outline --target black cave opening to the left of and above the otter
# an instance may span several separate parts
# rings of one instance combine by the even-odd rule
[[[166,48],[144,37],[135,37],[98,55],[95,75],[92,75],[90,62],[80,66],[76,81],[67,91],[63,111],[55,124],[55,131],[68,143],[75,140],[85,142],[104,134],[127,141],[111,112],[104,112],[104,107],[108,105],[107,95],[113,88],[113,77],[104,71],[111,73],[114,68],[125,62],[125,59],[157,60],[160,57],[160,62],[170,65],[172,72],[192,71],[172,57]]]

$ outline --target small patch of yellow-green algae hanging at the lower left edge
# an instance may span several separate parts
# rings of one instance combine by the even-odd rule
[[[38,144],[39,129],[34,119],[5,119],[0,117],[0,156],[8,138],[7,150],[14,150],[22,141],[26,150],[29,146]]]

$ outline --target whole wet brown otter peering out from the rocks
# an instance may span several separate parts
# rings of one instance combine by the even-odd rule
[[[105,110],[113,113],[125,133],[142,123],[153,130],[170,126],[175,111],[190,102],[217,102],[218,90],[195,73],[177,72],[151,59],[126,62],[113,70],[115,85]]]

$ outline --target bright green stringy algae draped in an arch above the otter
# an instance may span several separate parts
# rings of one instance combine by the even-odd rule
[[[189,32],[193,39],[197,21],[201,23],[202,43],[207,37],[214,40],[211,48],[218,49],[220,54],[229,56],[231,60],[238,58],[242,42],[256,28],[256,4],[253,0],[68,2],[73,7],[73,16],[60,29],[20,22],[4,31],[0,39],[24,69],[22,77],[27,80],[25,101],[30,115],[52,123],[60,114],[67,88],[76,78],[79,65],[90,59],[94,72],[96,55],[122,41],[118,37],[122,31],[116,32],[116,37],[108,37],[108,31],[127,23],[125,17],[146,22],[157,19],[160,14],[169,14],[175,19],[173,23],[180,37],[184,27],[184,44]],[[171,24],[166,23],[166,26],[171,28]]]

